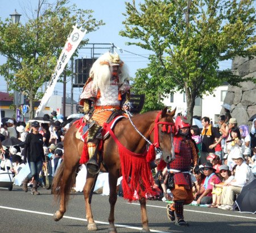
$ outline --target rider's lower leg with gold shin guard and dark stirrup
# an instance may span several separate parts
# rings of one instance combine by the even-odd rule
[[[87,143],[88,153],[89,153],[89,160],[86,163],[86,168],[90,174],[93,176],[100,172],[100,166],[98,165],[97,161],[97,144],[95,143]]]

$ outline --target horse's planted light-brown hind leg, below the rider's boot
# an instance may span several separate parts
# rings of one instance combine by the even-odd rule
[[[95,176],[92,176],[89,172],[87,172],[86,176],[86,183],[84,186],[84,199],[85,199],[85,211],[86,211],[86,219],[88,220],[88,231],[97,231],[97,225],[93,220],[93,215],[92,215],[92,208],[90,205],[91,202],[91,197],[90,193],[93,192],[93,184],[95,180]]]

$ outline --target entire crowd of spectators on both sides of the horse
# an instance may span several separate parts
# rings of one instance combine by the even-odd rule
[[[52,111],[51,116],[44,115],[44,119],[50,123],[40,123],[39,126],[44,151],[38,182],[41,186],[46,185],[46,173],[54,177],[63,160],[63,140],[72,120],[57,115],[56,111]],[[247,125],[238,126],[235,118],[227,119],[225,115],[220,116],[215,127],[206,116],[201,119],[201,123],[203,128],[190,128],[199,156],[196,167],[191,166],[194,201],[212,208],[231,210],[242,187],[249,184],[256,173],[256,119],[250,130]],[[31,123],[16,123],[14,119],[1,125],[0,142],[8,138],[22,142],[14,147],[2,147],[0,143],[1,170],[9,169],[15,176],[25,166],[27,156],[24,156],[24,144],[31,126]],[[160,195],[163,201],[172,200],[166,185],[168,170],[168,166],[163,170],[155,168],[155,182],[163,190]]]

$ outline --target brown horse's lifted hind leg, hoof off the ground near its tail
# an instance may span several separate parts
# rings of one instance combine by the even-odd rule
[[[64,169],[63,176],[60,182],[60,208],[53,214],[53,219],[57,222],[63,218],[66,212],[67,193],[69,193],[69,182],[72,182],[72,174],[75,172],[75,167],[72,169]],[[73,182],[72,182],[73,183]]]

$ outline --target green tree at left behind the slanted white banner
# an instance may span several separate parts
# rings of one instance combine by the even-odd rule
[[[0,74],[8,80],[10,90],[21,91],[29,99],[30,119],[34,117],[34,102],[40,98],[38,89],[51,78],[72,26],[77,23],[92,32],[104,24],[93,18],[92,10],[77,9],[68,3],[58,0],[50,5],[39,0],[35,17],[26,24],[0,19],[0,54],[7,57]]]

